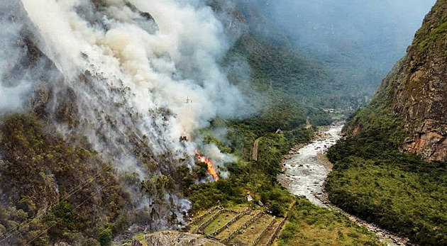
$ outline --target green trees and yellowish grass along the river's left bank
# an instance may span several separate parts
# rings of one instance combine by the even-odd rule
[[[212,206],[254,206],[270,211],[274,216],[285,216],[288,212],[285,230],[280,234],[279,245],[381,245],[377,237],[366,228],[353,223],[339,212],[319,208],[305,198],[297,198],[289,194],[287,189],[277,183],[282,155],[297,143],[311,140],[314,130],[311,128],[285,129],[284,133],[263,133],[258,125],[263,123],[262,117],[256,123],[232,123],[228,135],[239,135],[239,140],[232,145],[224,145],[216,139],[221,150],[238,156],[238,162],[230,164],[228,179],[206,184],[192,184],[187,194],[193,202],[193,211],[199,212]],[[265,125],[280,122],[265,122]],[[258,135],[263,133],[263,135]],[[241,135],[244,138],[241,140]],[[253,141],[262,136],[259,144],[258,161],[250,160],[250,149]],[[253,201],[248,202],[245,196],[250,194]],[[258,206],[259,201],[263,206]],[[293,201],[297,203],[289,211]],[[244,205],[245,204],[245,205]]]

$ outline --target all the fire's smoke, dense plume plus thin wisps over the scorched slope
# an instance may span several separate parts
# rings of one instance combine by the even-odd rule
[[[21,2],[38,49],[63,77],[39,84],[52,90],[45,113],[67,138],[87,137],[119,171],[144,180],[170,176],[179,165],[192,167],[197,144],[180,136],[216,116],[246,115],[243,94],[219,65],[234,38],[204,1]],[[14,86],[17,94],[35,89],[20,85]],[[8,108],[22,103],[11,101]],[[215,146],[204,146],[204,152],[219,165],[232,161]],[[165,199],[140,201],[155,211],[151,230],[169,227],[167,210],[182,220],[189,209],[175,191]]]

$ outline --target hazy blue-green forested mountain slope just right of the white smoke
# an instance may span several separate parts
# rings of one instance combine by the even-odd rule
[[[248,30],[238,38],[223,63],[246,58],[250,87],[263,97],[259,101],[287,99],[299,106],[312,123],[324,125],[330,123],[330,118],[324,116],[321,108],[356,108],[358,99],[364,99],[344,80],[336,81],[332,68],[327,69],[290,45],[284,30],[264,16],[256,3],[247,3],[241,15]],[[229,72],[233,73],[231,69]]]

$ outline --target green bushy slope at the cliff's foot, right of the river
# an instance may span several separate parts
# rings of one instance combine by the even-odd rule
[[[383,110],[360,110],[360,132],[329,150],[329,199],[416,244],[445,245],[447,164],[400,152],[402,121]]]

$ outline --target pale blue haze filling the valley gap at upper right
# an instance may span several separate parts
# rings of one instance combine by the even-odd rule
[[[317,80],[331,81],[334,94],[346,91],[334,99],[339,107],[341,101],[362,105],[373,96],[435,1],[237,2],[253,33],[321,65],[325,77]]]

